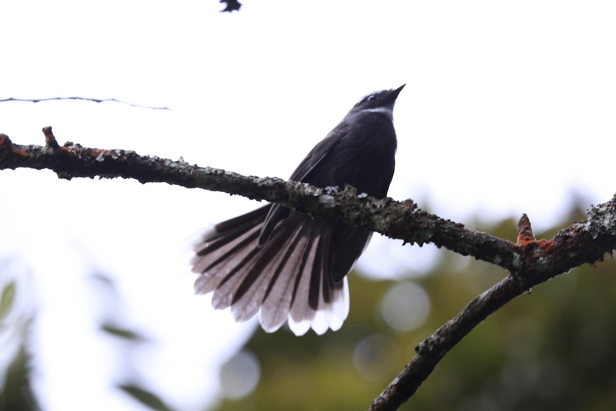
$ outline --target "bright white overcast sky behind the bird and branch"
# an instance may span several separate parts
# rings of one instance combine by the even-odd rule
[[[394,112],[391,197],[463,223],[527,213],[541,229],[558,221],[572,190],[589,204],[616,191],[614,2],[221,8],[215,0],[2,2],[0,99],[116,98],[173,111],[1,103],[0,132],[44,144],[40,130],[51,125],[60,144],[288,177],[360,97],[407,83]],[[131,367],[169,404],[214,401],[219,365],[255,325],[235,325],[192,296],[189,244],[208,224],[255,206],[164,184],[0,171],[0,256],[29,270],[20,297],[39,314],[36,392],[45,409],[140,409],[113,389],[126,359],[96,331],[110,317],[153,341]],[[421,274],[435,256],[375,238],[359,268]],[[94,269],[115,279],[117,300],[100,295]],[[352,288],[351,280],[351,310]]]

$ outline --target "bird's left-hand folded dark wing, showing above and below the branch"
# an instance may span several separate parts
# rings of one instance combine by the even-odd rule
[[[346,121],[342,120],[341,123],[338,124],[330,134],[328,134],[325,139],[318,142],[317,145],[314,146],[312,150],[308,153],[306,158],[299,163],[299,166],[293,171],[291,174],[291,181],[304,181],[306,176],[312,171],[318,163],[320,163],[323,158],[331,152],[331,149],[340,142],[342,136],[346,134],[348,131],[349,125]],[[259,246],[263,246],[267,240],[269,240],[272,231],[274,231],[274,227],[278,222],[289,216],[291,210],[286,207],[281,207],[277,204],[272,205],[269,213],[267,213],[267,217],[265,218],[265,222],[263,224],[263,228],[261,229],[261,235],[259,236]]]

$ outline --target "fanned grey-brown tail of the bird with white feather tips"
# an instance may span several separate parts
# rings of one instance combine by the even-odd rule
[[[346,277],[331,280],[332,224],[291,211],[278,222],[267,242],[259,235],[272,205],[217,224],[195,245],[195,293],[213,291],[212,306],[231,307],[245,321],[259,312],[267,332],[288,319],[303,335],[338,330],[349,314]]]

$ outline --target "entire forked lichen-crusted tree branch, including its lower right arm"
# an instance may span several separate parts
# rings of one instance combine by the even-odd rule
[[[416,348],[416,356],[370,410],[395,410],[407,401],[436,364],[472,328],[504,304],[556,275],[585,262],[602,261],[616,248],[616,195],[588,211],[588,219],[559,231],[551,240],[535,240],[527,216],[522,216],[516,243],[462,224],[439,218],[417,207],[412,200],[381,200],[357,194],[352,187],[320,189],[278,178],[241,176],[237,173],[188,165],[159,157],[140,156],[126,150],[89,149],[67,142],[60,147],[51,127],[43,129],[47,144],[13,144],[0,134],[0,169],[48,168],[59,177],[123,177],[145,182],[166,182],[243,195],[279,203],[314,216],[339,218],[354,226],[405,242],[434,243],[464,256],[490,262],[510,275],[477,296],[454,319]]]

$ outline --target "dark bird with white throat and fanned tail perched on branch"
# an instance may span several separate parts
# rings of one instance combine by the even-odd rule
[[[351,185],[375,198],[394,176],[394,104],[403,87],[357,102],[310,150],[290,180],[316,187]],[[213,293],[214,309],[231,307],[237,322],[259,314],[265,332],[287,320],[295,335],[336,331],[349,314],[347,274],[372,232],[312,217],[275,203],[220,222],[195,244],[195,294]]]

